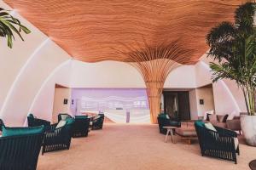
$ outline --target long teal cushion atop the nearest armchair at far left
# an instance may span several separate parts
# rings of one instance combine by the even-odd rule
[[[27,135],[37,134],[44,132],[44,125],[39,127],[3,127],[3,137],[16,136],[16,135]]]

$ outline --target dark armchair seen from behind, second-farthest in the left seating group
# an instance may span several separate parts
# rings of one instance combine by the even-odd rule
[[[73,123],[73,138],[86,137],[89,133],[90,118],[86,116],[75,116]]]

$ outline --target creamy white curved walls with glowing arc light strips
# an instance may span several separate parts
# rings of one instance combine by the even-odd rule
[[[0,7],[9,8],[3,1],[0,1]],[[12,14],[32,33],[24,35],[25,42],[17,37],[12,49],[7,48],[6,40],[0,37],[0,118],[8,126],[23,125],[29,111],[51,120],[55,83],[70,88],[145,88],[143,77],[131,65],[117,61],[84,63],[69,60],[70,56],[50,37],[17,12]],[[211,83],[209,61],[203,56],[196,65],[178,67],[167,77],[164,87],[198,88]],[[217,113],[245,111],[236,83],[213,84],[213,95]]]

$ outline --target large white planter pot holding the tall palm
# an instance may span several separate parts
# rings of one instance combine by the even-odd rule
[[[241,132],[247,144],[256,146],[256,116],[241,115]]]

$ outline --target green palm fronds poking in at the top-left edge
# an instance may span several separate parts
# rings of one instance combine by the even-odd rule
[[[14,32],[24,41],[20,34],[21,31],[26,34],[31,32],[26,26],[21,25],[20,20],[9,14],[8,10],[0,8],[0,37],[7,38],[9,48],[13,47],[13,40],[15,40]]]

